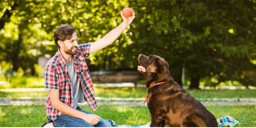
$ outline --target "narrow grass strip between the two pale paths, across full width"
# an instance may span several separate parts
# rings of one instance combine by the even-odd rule
[[[116,87],[99,88],[95,87],[97,97],[121,97],[121,98],[144,98],[147,93],[146,88]],[[187,90],[195,98],[256,98],[256,90]],[[12,92],[6,89],[0,91],[0,97],[22,97],[22,96],[48,96],[47,91],[34,92]]]

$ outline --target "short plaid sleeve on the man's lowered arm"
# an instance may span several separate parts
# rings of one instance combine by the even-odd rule
[[[47,65],[44,70],[44,88],[45,90],[59,89],[58,74],[53,70],[53,67],[49,65]]]

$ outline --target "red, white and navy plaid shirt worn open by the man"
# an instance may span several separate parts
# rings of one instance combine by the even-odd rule
[[[75,63],[76,75],[81,81],[81,86],[83,88],[84,97],[88,105],[96,110],[96,100],[93,90],[93,84],[90,78],[90,72],[85,62],[84,57],[90,55],[90,43],[81,44],[77,48],[76,55],[73,55],[73,61]],[[60,101],[74,107],[74,97],[73,90],[70,81],[70,76],[67,73],[67,62],[58,50],[56,54],[48,61],[46,68],[44,70],[44,81],[45,88],[58,89]],[[63,113],[52,107],[50,97],[46,101],[46,113],[49,119],[55,121]]]

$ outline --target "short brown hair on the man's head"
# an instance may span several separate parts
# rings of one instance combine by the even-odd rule
[[[72,34],[76,32],[76,29],[69,24],[63,24],[58,26],[58,28],[54,32],[54,41],[55,44],[58,45],[58,41],[65,41],[72,38]]]

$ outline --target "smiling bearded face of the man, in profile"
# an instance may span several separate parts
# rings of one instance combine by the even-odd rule
[[[76,32],[73,33],[72,38],[70,40],[65,40],[63,42],[64,52],[69,55],[76,55],[76,47],[78,46]]]

